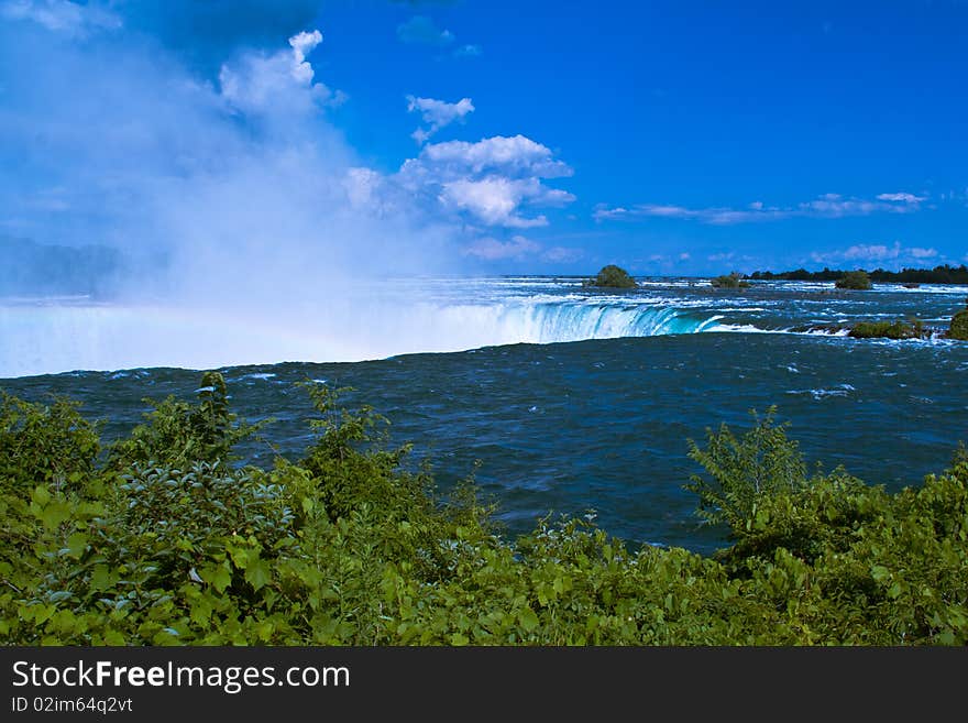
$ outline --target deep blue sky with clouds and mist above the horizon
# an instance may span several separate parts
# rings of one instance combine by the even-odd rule
[[[960,264],[966,78],[964,0],[0,0],[0,235],[388,273]]]

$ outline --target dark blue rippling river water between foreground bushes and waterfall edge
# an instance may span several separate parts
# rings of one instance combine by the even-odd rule
[[[700,527],[681,485],[701,472],[689,438],[749,410],[778,407],[810,461],[844,464],[895,490],[941,471],[968,441],[968,344],[884,342],[804,333],[708,331],[566,343],[518,343],[353,363],[228,366],[235,410],[275,417],[265,441],[242,448],[271,464],[311,441],[305,380],[355,388],[350,406],[388,417],[394,441],[432,461],[442,489],[475,469],[508,534],[548,513],[594,510],[634,543],[710,551],[722,530]],[[68,394],[103,419],[107,438],[130,430],[145,396],[191,398],[199,373],[89,371],[0,381],[31,399]]]

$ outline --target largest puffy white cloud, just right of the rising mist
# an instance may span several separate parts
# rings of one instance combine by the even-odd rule
[[[574,200],[572,194],[543,183],[571,173],[547,146],[524,135],[498,135],[476,143],[427,145],[418,157],[404,163],[397,182],[477,222],[530,228],[547,226],[548,219],[525,216],[525,207],[560,207]]]

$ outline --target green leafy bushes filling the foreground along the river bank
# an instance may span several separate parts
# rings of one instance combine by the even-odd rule
[[[888,494],[807,478],[774,409],[707,430],[689,489],[733,544],[632,546],[594,515],[504,539],[469,479],[403,469],[387,420],[307,383],[302,460],[233,467],[252,427],[207,373],[98,462],[76,405],[3,397],[9,645],[964,645],[968,454]],[[170,448],[165,445],[172,443]]]

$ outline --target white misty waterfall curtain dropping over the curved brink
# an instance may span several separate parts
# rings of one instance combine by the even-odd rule
[[[708,315],[620,298],[344,299],[285,314],[85,299],[0,303],[0,377],[146,366],[363,361],[509,343],[692,333]]]

